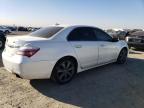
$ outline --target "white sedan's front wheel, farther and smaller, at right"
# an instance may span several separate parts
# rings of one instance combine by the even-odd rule
[[[126,48],[123,48],[118,56],[117,63],[124,64],[127,61],[128,51]]]

